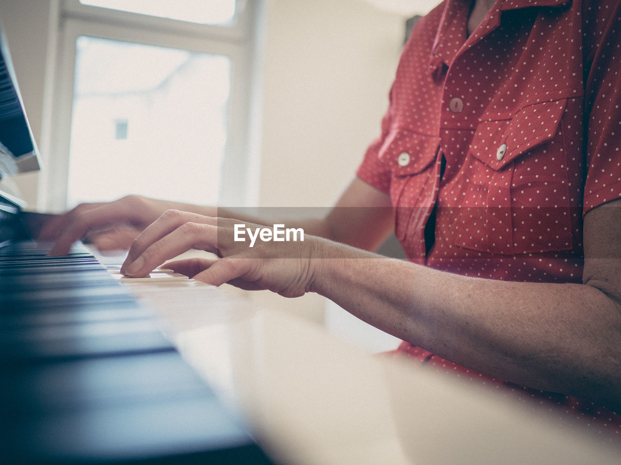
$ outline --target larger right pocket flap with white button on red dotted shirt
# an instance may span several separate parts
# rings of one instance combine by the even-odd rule
[[[482,121],[471,144],[471,153],[494,170],[554,138],[567,99],[529,105],[510,120]]]

